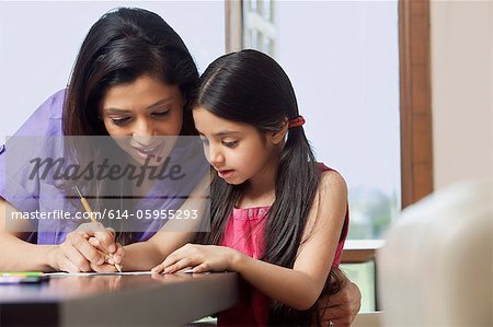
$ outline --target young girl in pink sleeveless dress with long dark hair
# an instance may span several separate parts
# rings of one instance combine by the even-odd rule
[[[199,80],[193,117],[217,172],[210,233],[152,271],[238,271],[254,290],[219,325],[312,325],[347,235],[347,190],[316,162],[288,77],[255,50],[222,56]]]

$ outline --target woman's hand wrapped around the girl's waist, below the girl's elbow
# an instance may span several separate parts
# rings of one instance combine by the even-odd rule
[[[341,290],[335,294],[322,294],[317,304],[321,326],[348,327],[362,306],[362,293],[339,269],[333,270],[341,280]]]

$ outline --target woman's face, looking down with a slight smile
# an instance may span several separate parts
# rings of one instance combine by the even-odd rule
[[[142,75],[110,87],[101,101],[100,116],[110,136],[131,157],[159,165],[180,135],[184,105],[177,85]]]

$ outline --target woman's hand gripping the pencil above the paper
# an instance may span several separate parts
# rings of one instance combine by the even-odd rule
[[[122,261],[124,250],[114,238],[114,231],[106,230],[101,223],[81,224],[51,253],[50,266],[68,272],[115,271],[112,265]],[[112,254],[113,262],[106,264],[106,254]]]

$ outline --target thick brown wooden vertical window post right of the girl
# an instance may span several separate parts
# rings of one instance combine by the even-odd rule
[[[429,0],[399,0],[402,209],[433,185]]]

